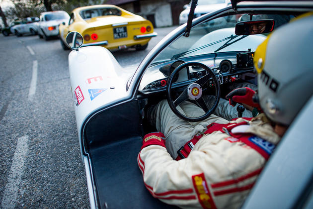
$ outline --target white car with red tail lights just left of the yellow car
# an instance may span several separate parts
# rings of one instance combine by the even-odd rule
[[[52,36],[59,35],[59,25],[70,20],[70,15],[66,11],[42,12],[38,22],[38,36],[48,40]]]

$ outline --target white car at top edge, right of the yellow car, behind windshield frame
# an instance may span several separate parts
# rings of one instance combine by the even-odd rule
[[[210,13],[215,10],[225,8],[228,4],[231,4],[230,0],[198,0],[193,18],[199,17],[203,14]],[[179,25],[187,22],[188,14],[191,7],[191,1],[189,4],[184,5],[184,9],[179,15]]]

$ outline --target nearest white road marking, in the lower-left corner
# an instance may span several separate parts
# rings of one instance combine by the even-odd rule
[[[24,173],[24,160],[28,150],[28,136],[18,138],[16,149],[13,156],[13,161],[9,175],[7,177],[7,184],[3,192],[1,207],[2,209],[13,209],[17,203],[17,198]]]

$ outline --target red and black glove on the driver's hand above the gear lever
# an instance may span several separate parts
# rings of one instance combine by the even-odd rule
[[[255,92],[252,89],[242,87],[231,91],[228,95],[226,95],[226,99],[230,101],[232,106],[235,106],[237,103],[243,103],[261,109],[258,103],[253,102],[254,95]]]

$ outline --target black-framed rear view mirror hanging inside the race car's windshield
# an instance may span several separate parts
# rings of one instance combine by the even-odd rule
[[[261,19],[238,22],[235,26],[236,35],[269,33],[274,29],[273,19]]]

